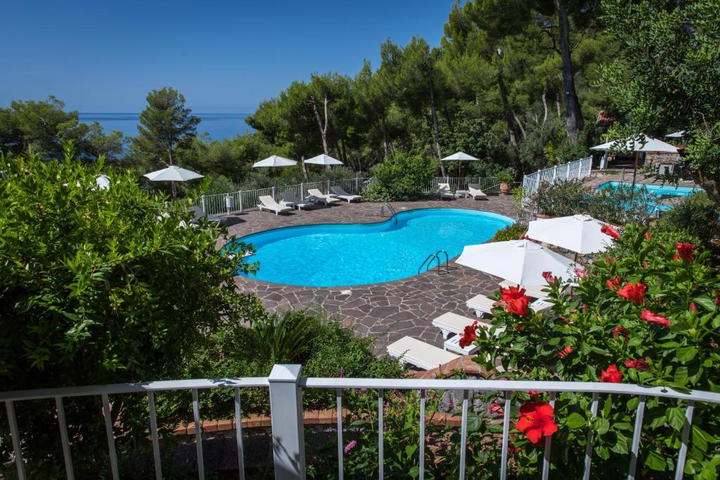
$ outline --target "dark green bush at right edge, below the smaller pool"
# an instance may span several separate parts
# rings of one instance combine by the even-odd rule
[[[704,191],[698,191],[663,212],[657,225],[667,230],[683,230],[708,243],[718,232],[718,207]]]

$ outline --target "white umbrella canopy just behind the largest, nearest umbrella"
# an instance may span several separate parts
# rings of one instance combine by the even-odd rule
[[[581,255],[604,252],[611,245],[608,235],[600,229],[608,225],[590,215],[572,215],[542,220],[528,224],[527,236],[539,242],[567,248]]]

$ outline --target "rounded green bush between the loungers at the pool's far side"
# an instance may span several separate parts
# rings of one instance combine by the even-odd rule
[[[423,190],[438,169],[433,158],[416,150],[397,152],[372,171],[373,181],[362,191],[366,201],[412,201],[425,198]]]

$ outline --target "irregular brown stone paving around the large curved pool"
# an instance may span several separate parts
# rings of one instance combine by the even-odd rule
[[[394,202],[393,207],[398,212],[401,209],[453,207],[486,210],[516,218],[511,196],[490,196],[487,200]],[[229,230],[240,237],[289,225],[379,222],[382,220],[379,210],[377,203],[343,203],[296,210],[280,216],[270,212],[243,212],[231,216]],[[418,263],[420,261],[422,259]],[[444,312],[472,317],[472,312],[465,307],[467,299],[477,294],[492,294],[499,280],[451,261],[449,274],[438,276],[436,272],[426,272],[384,284],[317,288],[271,284],[242,276],[235,277],[235,284],[240,290],[258,294],[270,311],[323,304],[325,310],[341,317],[361,335],[376,338],[377,353],[382,353],[385,345],[405,335],[441,347],[442,335],[431,325],[433,318]]]

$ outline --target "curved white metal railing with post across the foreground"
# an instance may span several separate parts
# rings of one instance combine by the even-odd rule
[[[498,380],[438,380],[438,379],[346,379],[346,378],[302,378],[300,365],[275,365],[269,377],[238,378],[238,379],[199,379],[180,381],[153,381],[137,384],[115,384],[104,386],[81,386],[59,389],[38,389],[26,391],[9,391],[0,393],[0,402],[6,406],[9,421],[14,460],[17,466],[19,479],[27,478],[24,471],[22,457],[22,438],[17,426],[14,404],[32,399],[55,399],[58,425],[60,426],[60,441],[63,446],[63,457],[68,479],[73,479],[73,464],[68,443],[68,431],[63,409],[63,398],[81,396],[102,397],[107,443],[113,479],[120,478],[117,468],[117,454],[114,446],[113,426],[110,420],[110,394],[132,394],[145,392],[148,394],[150,436],[153,443],[153,460],[155,463],[156,478],[162,478],[160,463],[160,447],[158,442],[158,426],[156,420],[154,392],[168,390],[191,390],[193,400],[193,417],[195,422],[195,442],[197,451],[197,466],[200,479],[204,479],[204,463],[202,457],[202,428],[200,426],[198,390],[214,388],[235,389],[235,422],[237,425],[238,468],[240,479],[244,478],[243,438],[241,431],[240,389],[247,387],[268,387],[271,409],[271,428],[273,435],[273,456],[276,479],[304,479],[305,478],[305,441],[303,437],[302,389],[333,389],[337,398],[337,438],[338,438],[338,478],[343,478],[343,415],[342,401],[343,389],[374,389],[377,390],[378,405],[378,469],[379,478],[383,477],[383,406],[385,390],[417,390],[420,398],[420,415],[418,418],[419,435],[419,478],[424,478],[425,471],[425,423],[426,423],[426,391],[428,390],[459,390],[462,397],[462,422],[460,436],[460,478],[464,479],[465,458],[467,453],[467,418],[470,393],[499,392],[505,399],[503,413],[503,438],[501,452],[500,479],[505,479],[508,466],[508,442],[510,433],[510,415],[512,412],[511,394],[516,391],[548,392],[550,404],[554,406],[556,394],[559,392],[577,392],[592,395],[590,416],[598,415],[600,395],[624,395],[638,397],[639,402],[635,413],[635,425],[630,451],[628,478],[634,479],[636,463],[639,454],[640,436],[642,434],[645,403],[648,397],[661,397],[687,402],[685,407],[685,425],[681,433],[680,449],[675,466],[675,479],[683,477],[685,460],[690,442],[690,428],[693,422],[693,410],[696,402],[720,404],[720,394],[708,391],[675,391],[660,386],[638,386],[631,384],[610,384],[591,382],[563,382],[563,381],[498,381]],[[590,466],[593,458],[593,430],[586,433],[587,447],[585,449],[585,474],[583,479],[590,477]],[[544,444],[542,479],[549,477],[551,438]]]

